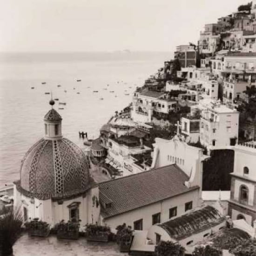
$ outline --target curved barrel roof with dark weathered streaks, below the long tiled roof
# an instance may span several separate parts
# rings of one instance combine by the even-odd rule
[[[225,217],[218,210],[208,205],[157,225],[165,229],[176,241],[179,241],[203,230],[210,229],[224,220]]]

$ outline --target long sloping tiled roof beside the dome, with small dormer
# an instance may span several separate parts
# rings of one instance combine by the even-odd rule
[[[107,203],[105,197],[112,202],[110,208],[101,208],[101,216],[112,217],[199,189],[187,188],[184,182],[188,180],[189,176],[173,164],[99,183],[101,204]]]

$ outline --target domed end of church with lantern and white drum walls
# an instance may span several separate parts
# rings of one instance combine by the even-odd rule
[[[61,115],[52,108],[44,117],[45,135],[24,156],[14,182],[14,207],[24,221],[38,217],[55,224],[76,218],[81,225],[98,221],[98,187],[82,150],[61,133]]]

